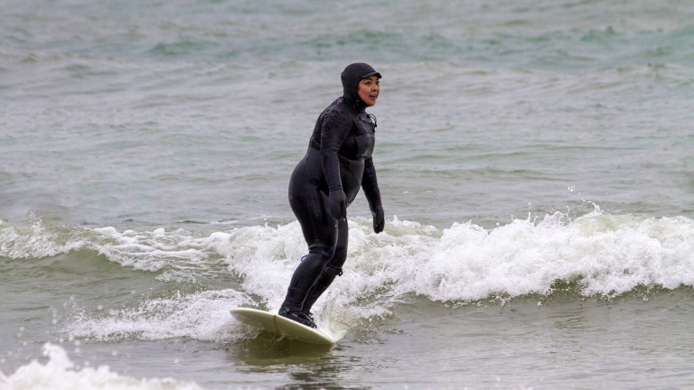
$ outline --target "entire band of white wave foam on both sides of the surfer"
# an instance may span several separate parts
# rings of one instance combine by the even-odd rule
[[[349,226],[345,273],[314,307],[319,326],[333,334],[384,315],[413,294],[473,302],[549,294],[557,281],[577,283],[577,292],[585,296],[614,296],[640,285],[674,289],[694,284],[694,221],[684,217],[612,216],[596,209],[572,221],[556,213],[492,230],[473,223],[437,229],[398,218],[389,220],[380,235],[366,218],[351,218]],[[51,255],[81,247],[127,267],[159,271],[158,277],[169,283],[228,274],[240,281],[240,291],[147,300],[135,311],[98,319],[85,315],[68,327],[73,335],[97,339],[243,337],[229,309],[277,310],[306,252],[296,222],[199,236],[184,230],[62,229],[0,227],[0,255]]]

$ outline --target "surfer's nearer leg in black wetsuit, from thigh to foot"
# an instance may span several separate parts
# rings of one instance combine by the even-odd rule
[[[326,208],[326,198],[327,195],[320,190],[307,191],[300,195],[290,191],[289,195],[289,204],[299,220],[308,244],[308,255],[292,275],[279,314],[311,327],[315,327],[315,324],[302,311],[304,301],[311,287],[323,273],[325,265],[335,255],[338,237],[338,223]]]

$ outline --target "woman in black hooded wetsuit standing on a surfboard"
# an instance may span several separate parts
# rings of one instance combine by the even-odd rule
[[[296,267],[278,314],[311,328],[311,307],[342,275],[347,208],[360,186],[369,201],[373,231],[380,233],[385,225],[371,159],[376,116],[365,111],[379,98],[380,73],[358,62],[348,65],[341,79],[342,97],[318,116],[308,151],[289,181],[289,205],[301,224],[308,255]]]

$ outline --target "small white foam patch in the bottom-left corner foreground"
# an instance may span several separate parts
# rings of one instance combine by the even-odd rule
[[[202,390],[200,385],[180,382],[171,378],[136,379],[121,376],[108,366],[75,368],[67,352],[51,343],[43,346],[45,364],[37,360],[19,367],[14,374],[0,372],[2,390]]]

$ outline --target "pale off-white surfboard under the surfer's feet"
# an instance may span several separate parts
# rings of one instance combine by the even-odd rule
[[[314,330],[296,321],[286,319],[277,314],[249,308],[231,309],[231,315],[254,328],[286,336],[311,344],[333,345],[335,341],[320,330]]]

